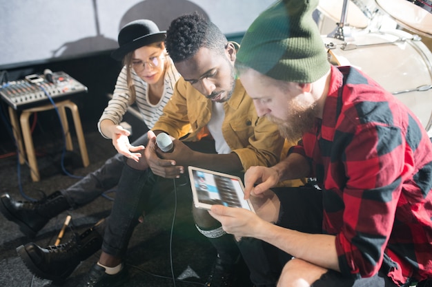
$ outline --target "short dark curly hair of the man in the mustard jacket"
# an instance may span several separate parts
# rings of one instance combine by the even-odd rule
[[[197,12],[174,19],[166,31],[165,46],[174,63],[190,59],[201,47],[224,53],[226,43],[224,33]]]

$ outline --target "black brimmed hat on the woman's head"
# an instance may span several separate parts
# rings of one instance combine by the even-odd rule
[[[113,59],[121,61],[123,57],[139,47],[165,40],[166,31],[159,31],[155,22],[135,20],[124,25],[119,32],[119,48],[111,53]]]

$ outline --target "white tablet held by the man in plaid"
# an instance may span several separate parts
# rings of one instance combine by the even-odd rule
[[[253,211],[249,200],[244,200],[244,185],[237,176],[188,167],[193,203],[199,209],[210,209],[213,204],[242,207]]]

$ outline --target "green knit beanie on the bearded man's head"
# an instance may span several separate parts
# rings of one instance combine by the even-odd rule
[[[319,0],[279,0],[244,34],[237,61],[276,80],[313,83],[330,69],[312,12]]]

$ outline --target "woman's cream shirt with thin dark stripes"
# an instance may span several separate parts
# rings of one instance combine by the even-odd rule
[[[180,74],[175,69],[173,61],[169,59],[169,65],[165,71],[164,75],[164,92],[159,100],[159,103],[153,105],[148,100],[148,84],[143,81],[135,71],[132,69],[132,80],[135,85],[135,97],[130,95],[128,85],[126,82],[126,69],[128,67],[124,66],[121,69],[119,76],[117,77],[117,83],[115,84],[114,94],[112,99],[108,101],[108,106],[104,109],[101,118],[99,118],[99,123],[97,127],[99,132],[101,132],[100,124],[102,120],[112,120],[113,123],[119,125],[123,119],[124,114],[130,105],[133,103],[137,104],[139,113],[141,114],[144,123],[146,123],[149,129],[152,129],[159,116],[163,113],[163,109],[173,96],[175,82],[180,77]],[[104,134],[102,134],[104,136]],[[106,136],[104,136],[106,138]]]

